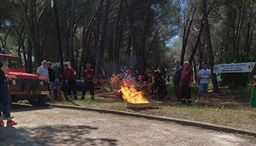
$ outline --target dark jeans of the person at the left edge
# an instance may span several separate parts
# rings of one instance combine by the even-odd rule
[[[5,118],[11,118],[10,91],[6,82],[0,84],[0,104],[2,105]]]

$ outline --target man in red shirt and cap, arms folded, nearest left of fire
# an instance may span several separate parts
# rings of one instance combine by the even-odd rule
[[[94,100],[94,78],[95,78],[95,72],[93,69],[91,69],[91,64],[86,64],[87,69],[83,71],[83,92],[82,92],[82,100],[86,96],[86,92],[88,89],[91,93],[91,99]]]

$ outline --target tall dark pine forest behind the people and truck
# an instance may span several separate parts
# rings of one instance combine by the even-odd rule
[[[80,79],[86,64],[109,76],[157,66],[163,74],[173,61],[202,64],[256,60],[255,0],[57,0],[61,47]],[[1,0],[0,47],[23,58],[33,73],[42,60],[59,62],[51,0]],[[212,74],[219,86],[242,88],[256,72]],[[234,80],[236,79],[236,80]]]

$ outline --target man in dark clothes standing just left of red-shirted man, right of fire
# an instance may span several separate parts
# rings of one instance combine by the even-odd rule
[[[181,74],[183,71],[183,67],[181,66],[179,61],[174,61],[174,66],[176,67],[173,74],[169,74],[170,77],[173,77],[174,91],[177,97],[177,104],[181,104],[181,86],[179,82],[181,81]]]

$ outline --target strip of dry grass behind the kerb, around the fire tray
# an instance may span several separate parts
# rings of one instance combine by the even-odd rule
[[[196,83],[192,85],[192,94],[197,93],[198,87],[199,85]],[[202,100],[199,103],[195,103],[197,97],[192,96],[191,107],[174,103],[176,96],[173,91],[173,84],[167,84],[167,90],[168,96],[163,101],[163,104],[159,106],[159,109],[132,110],[127,108],[127,104],[121,99],[101,96],[96,96],[95,101],[91,101],[89,96],[86,96],[86,99],[83,101],[78,100],[74,102],[82,107],[96,107],[106,110],[181,118],[256,131],[256,108],[249,107],[252,86],[236,91],[229,88],[221,88],[222,95],[229,96],[229,98],[218,99],[219,95],[214,94],[215,96],[207,99],[207,105],[203,104]],[[212,91],[212,85],[209,86],[209,91]],[[80,92],[78,94],[80,95]],[[236,99],[237,96],[240,96],[241,99]],[[73,105],[69,101],[52,101],[52,103]]]

